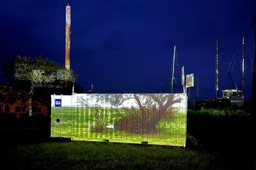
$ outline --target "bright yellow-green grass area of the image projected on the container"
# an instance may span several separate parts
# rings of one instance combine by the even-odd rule
[[[186,143],[185,112],[176,111],[172,113],[172,120],[168,118],[160,120],[156,125],[156,132],[131,132],[127,125],[131,122],[125,121],[124,116],[123,109],[116,112],[114,109],[104,108],[100,115],[96,115],[86,107],[52,107],[51,137],[71,137],[79,141],[108,139],[109,142],[114,143],[147,141],[148,144],[174,146],[184,146]],[[123,129],[111,127],[122,119],[124,119]],[[145,127],[147,130],[147,125]]]

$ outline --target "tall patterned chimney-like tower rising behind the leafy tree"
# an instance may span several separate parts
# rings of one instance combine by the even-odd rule
[[[70,25],[71,25],[71,20],[70,20],[70,13],[71,7],[69,4],[66,6],[66,41],[65,41],[65,68],[66,70],[70,70]]]

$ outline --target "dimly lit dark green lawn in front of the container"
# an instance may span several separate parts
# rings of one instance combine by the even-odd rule
[[[216,153],[134,144],[2,145],[0,155],[0,169],[225,169]]]

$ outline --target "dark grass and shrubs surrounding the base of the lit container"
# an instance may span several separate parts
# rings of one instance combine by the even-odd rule
[[[246,114],[188,112],[184,149],[54,142],[49,139],[47,118],[20,118],[12,127],[0,128],[0,169],[254,169],[253,122]]]

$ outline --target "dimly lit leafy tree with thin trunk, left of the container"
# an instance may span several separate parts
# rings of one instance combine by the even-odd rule
[[[15,78],[29,82],[29,116],[32,115],[32,98],[35,87],[63,88],[67,82],[74,81],[77,76],[72,70],[65,70],[61,65],[45,58],[16,57]]]

